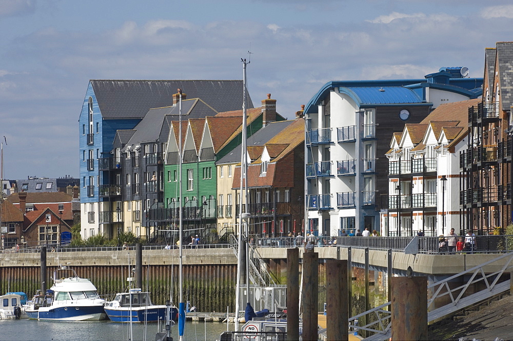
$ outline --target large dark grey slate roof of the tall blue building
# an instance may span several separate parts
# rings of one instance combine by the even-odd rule
[[[168,107],[178,88],[187,98],[201,98],[215,111],[242,107],[242,81],[128,81],[91,79],[91,86],[103,118],[141,119],[150,108]],[[253,108],[249,94],[248,108]]]

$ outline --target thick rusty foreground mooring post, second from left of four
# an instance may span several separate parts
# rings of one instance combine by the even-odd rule
[[[303,340],[317,341],[319,319],[319,253],[303,253]]]

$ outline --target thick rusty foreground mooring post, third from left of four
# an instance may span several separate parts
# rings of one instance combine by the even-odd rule
[[[328,340],[349,339],[347,260],[326,260],[326,327]]]

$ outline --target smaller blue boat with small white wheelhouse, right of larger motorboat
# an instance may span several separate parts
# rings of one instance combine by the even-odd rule
[[[112,322],[145,323],[164,321],[166,306],[151,304],[150,293],[141,289],[129,289],[117,293],[114,300],[105,304],[105,312]],[[178,309],[169,307],[170,319],[177,320]],[[131,319],[131,320],[130,320]]]

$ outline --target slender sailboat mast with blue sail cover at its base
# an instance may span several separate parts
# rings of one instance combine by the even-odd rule
[[[179,207],[180,207],[180,223],[179,223],[179,241],[180,245],[178,247],[179,252],[179,315],[178,315],[178,332],[179,337],[178,339],[182,341],[184,339],[184,330],[185,330],[185,304],[184,304],[184,286],[183,286],[183,232],[184,232],[184,217],[183,217],[183,207],[182,207],[182,89],[178,89],[178,93],[180,94],[180,101],[179,101],[179,128],[178,128],[178,159],[179,159],[179,167],[178,167],[178,174],[179,174]]]

